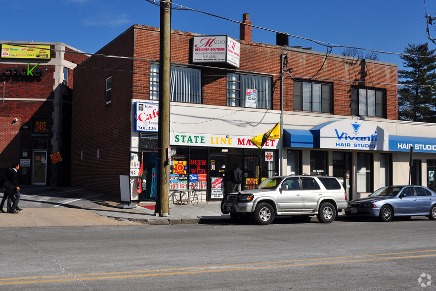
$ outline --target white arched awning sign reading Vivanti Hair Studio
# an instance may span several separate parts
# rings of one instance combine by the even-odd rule
[[[310,130],[320,148],[388,150],[385,131],[367,121],[341,120],[321,124]]]

